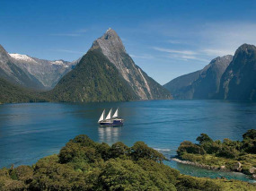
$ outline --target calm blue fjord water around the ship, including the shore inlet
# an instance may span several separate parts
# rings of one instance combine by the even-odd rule
[[[125,125],[100,127],[103,109],[118,108]],[[108,111],[108,110],[107,110]],[[145,100],[105,103],[24,103],[0,105],[0,168],[26,164],[58,153],[75,135],[131,146],[144,141],[167,157],[179,144],[195,143],[201,133],[214,140],[242,140],[256,125],[256,102],[224,100]],[[218,172],[166,161],[181,173],[198,177],[249,180],[241,173]]]

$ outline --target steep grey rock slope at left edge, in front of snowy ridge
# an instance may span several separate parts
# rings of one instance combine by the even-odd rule
[[[25,88],[42,90],[44,86],[33,75],[16,65],[15,60],[0,45],[0,78]]]

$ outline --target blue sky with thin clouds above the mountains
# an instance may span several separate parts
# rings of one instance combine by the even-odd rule
[[[135,63],[164,84],[216,56],[256,45],[256,1],[11,1],[0,3],[10,53],[72,61],[109,27]]]

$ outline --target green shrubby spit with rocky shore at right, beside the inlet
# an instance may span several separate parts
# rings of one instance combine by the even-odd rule
[[[213,167],[241,171],[256,178],[256,130],[248,130],[243,141],[224,139],[213,141],[208,135],[201,134],[199,144],[184,141],[178,148],[182,160],[193,161]]]

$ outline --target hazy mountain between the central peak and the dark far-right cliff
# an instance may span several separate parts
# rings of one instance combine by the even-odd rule
[[[219,90],[219,83],[233,56],[213,59],[202,70],[183,75],[164,85],[176,99],[212,99]]]

